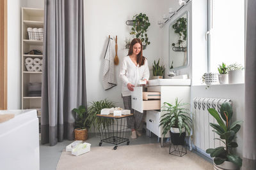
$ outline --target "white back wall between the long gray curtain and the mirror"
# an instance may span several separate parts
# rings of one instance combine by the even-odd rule
[[[129,32],[131,26],[125,24],[127,20],[138,13],[146,13],[150,20],[148,29],[148,39],[151,42],[143,55],[148,59],[148,66],[152,68],[152,62],[159,59],[163,52],[163,29],[157,25],[164,14],[168,13],[170,6],[164,6],[164,2],[156,0],[141,1],[90,1],[85,0],[84,16],[85,16],[85,46],[86,46],[86,89],[87,101],[98,101],[108,98],[116,103],[116,106],[123,106],[121,98],[122,82],[118,77],[120,64],[123,57],[127,55],[124,50],[125,38],[131,37]],[[175,2],[177,3],[177,2]],[[164,8],[163,8],[164,6]],[[111,37],[118,36],[118,59],[119,65],[115,67],[118,85],[109,90],[102,88],[102,58],[106,50],[108,35]],[[166,36],[168,36],[166,34]],[[115,56],[115,41],[112,43],[113,56]],[[168,64],[168,62],[164,63]]]

